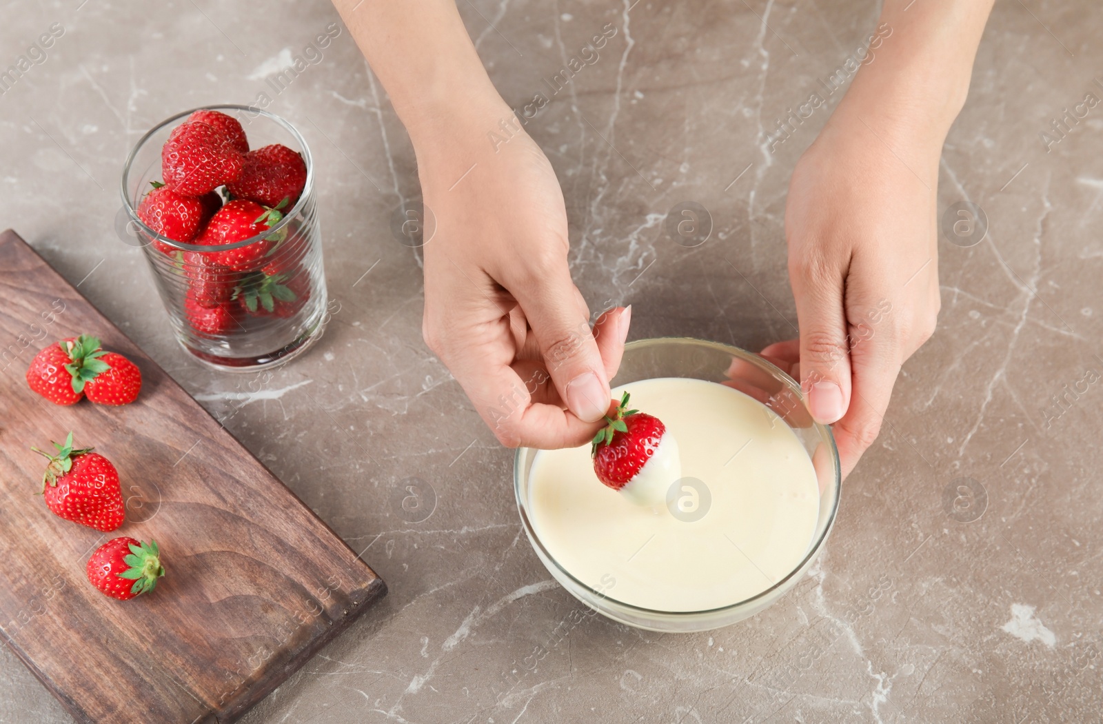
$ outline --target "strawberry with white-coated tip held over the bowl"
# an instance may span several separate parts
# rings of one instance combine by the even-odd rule
[[[677,443],[657,417],[625,409],[628,400],[625,392],[593,437],[593,471],[601,482],[636,502],[657,503],[682,477]]]

